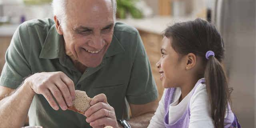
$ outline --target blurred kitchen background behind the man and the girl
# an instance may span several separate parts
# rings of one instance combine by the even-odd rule
[[[242,128],[256,128],[255,0],[117,0],[118,20],[137,28],[143,40],[159,99],[164,88],[155,67],[166,25],[197,17],[217,25],[226,46],[224,66],[232,92],[232,109]],[[134,6],[128,3],[132,2]],[[16,28],[31,19],[53,18],[50,0],[0,0],[0,72]],[[26,124],[28,125],[28,120]]]

